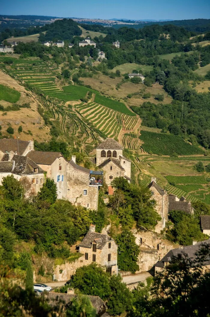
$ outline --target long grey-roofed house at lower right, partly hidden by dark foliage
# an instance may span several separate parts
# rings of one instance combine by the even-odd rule
[[[155,266],[155,273],[164,271],[167,267],[167,265],[170,264],[171,259],[173,256],[183,255],[187,254],[187,257],[190,260],[196,259],[196,253],[202,248],[203,245],[209,245],[210,246],[210,240],[205,240],[201,242],[194,242],[193,245],[187,245],[185,247],[180,247],[176,249],[170,250],[160,261],[158,261]],[[210,259],[204,261],[202,263],[202,272],[207,273],[210,272]]]

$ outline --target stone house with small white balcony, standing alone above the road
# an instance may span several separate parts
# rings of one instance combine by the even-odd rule
[[[92,262],[106,268],[111,275],[118,274],[117,244],[107,234],[95,232],[95,225],[91,225],[88,233],[79,244],[79,252],[85,255],[85,264]]]

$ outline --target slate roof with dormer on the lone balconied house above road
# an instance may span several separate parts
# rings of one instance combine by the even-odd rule
[[[110,236],[102,233],[88,231],[86,236],[82,239],[79,247],[92,248],[92,243],[97,243],[96,249],[103,249],[108,241],[114,241]]]

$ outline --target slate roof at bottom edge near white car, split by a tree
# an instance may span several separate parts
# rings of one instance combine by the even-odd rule
[[[46,298],[48,299],[48,303],[51,306],[56,305],[56,301],[61,301],[64,304],[70,304],[73,298],[75,298],[77,295],[76,294],[66,294],[66,293],[53,293],[50,292],[46,295]],[[100,308],[102,305],[107,308],[106,304],[104,301],[99,296],[92,296],[92,295],[86,295],[89,297],[91,304],[93,307],[96,309],[96,314],[100,313]],[[110,317],[110,315],[106,312],[104,314],[100,314],[100,316],[103,317]]]

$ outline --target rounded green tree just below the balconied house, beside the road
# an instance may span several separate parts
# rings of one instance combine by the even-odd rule
[[[81,294],[107,299],[111,294],[110,275],[96,263],[76,269],[70,280],[70,287],[78,288]]]

